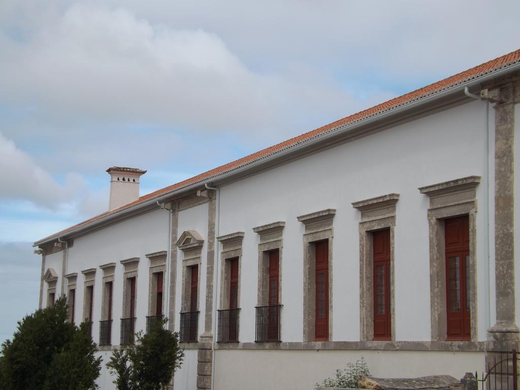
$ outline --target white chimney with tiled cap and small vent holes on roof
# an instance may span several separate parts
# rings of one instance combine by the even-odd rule
[[[139,199],[139,177],[146,171],[137,168],[112,166],[110,175],[110,203],[108,211],[118,209]]]

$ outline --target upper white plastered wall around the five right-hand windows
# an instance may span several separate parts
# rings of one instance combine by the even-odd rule
[[[473,101],[223,187],[219,233],[245,232],[239,340],[254,341],[258,238],[251,229],[278,220],[285,221],[282,340],[303,340],[304,227],[296,217],[328,208],[337,209],[332,340],[359,340],[359,212],[351,203],[391,192],[400,194],[394,259],[396,339],[431,340],[428,198],[418,187],[471,175],[484,179],[485,107],[485,102]],[[477,243],[485,237],[485,191],[485,186],[477,187]],[[477,244],[476,255],[480,286],[482,245]],[[478,301],[478,316],[487,311],[484,302]],[[485,340],[486,321],[479,317],[477,322],[478,340]]]

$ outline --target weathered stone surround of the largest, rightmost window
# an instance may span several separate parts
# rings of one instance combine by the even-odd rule
[[[470,328],[471,341],[477,341],[476,186],[479,183],[480,176],[468,176],[419,188],[420,193],[426,194],[430,198],[428,226],[430,229],[430,300],[433,341],[446,342],[444,219],[461,215],[469,215],[470,220]]]

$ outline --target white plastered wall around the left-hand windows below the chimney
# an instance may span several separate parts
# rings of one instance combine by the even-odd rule
[[[120,341],[120,318],[123,315],[123,272],[121,260],[139,257],[136,297],[136,332],[146,329],[146,316],[148,315],[148,282],[150,261],[145,256],[148,253],[168,250],[169,217],[168,211],[154,210],[126,219],[118,224],[111,225],[101,230],[89,233],[86,236],[76,238],[74,245],[69,249],[69,261],[67,272],[77,272],[76,281],[76,308],[75,321],[80,323],[83,319],[83,294],[85,276],[82,270],[96,268],[94,286],[93,328],[92,336],[96,343],[99,342],[99,320],[101,319],[101,297],[103,270],[100,265],[115,263],[113,284],[113,311],[112,311],[112,345],[118,345]],[[61,256],[61,252],[59,253]],[[61,268],[60,268],[61,270]],[[101,388],[110,387],[113,378],[105,367],[110,358],[110,352],[101,351],[103,363],[101,376]]]

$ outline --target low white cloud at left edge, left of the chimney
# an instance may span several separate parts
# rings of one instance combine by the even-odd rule
[[[0,171],[3,212],[37,215],[59,220],[2,218],[0,241],[35,240],[53,230],[61,230],[77,218],[99,214],[108,209],[109,187],[87,188],[83,177],[67,173],[63,183],[38,165],[27,153],[0,133]],[[107,175],[108,176],[108,175]]]

